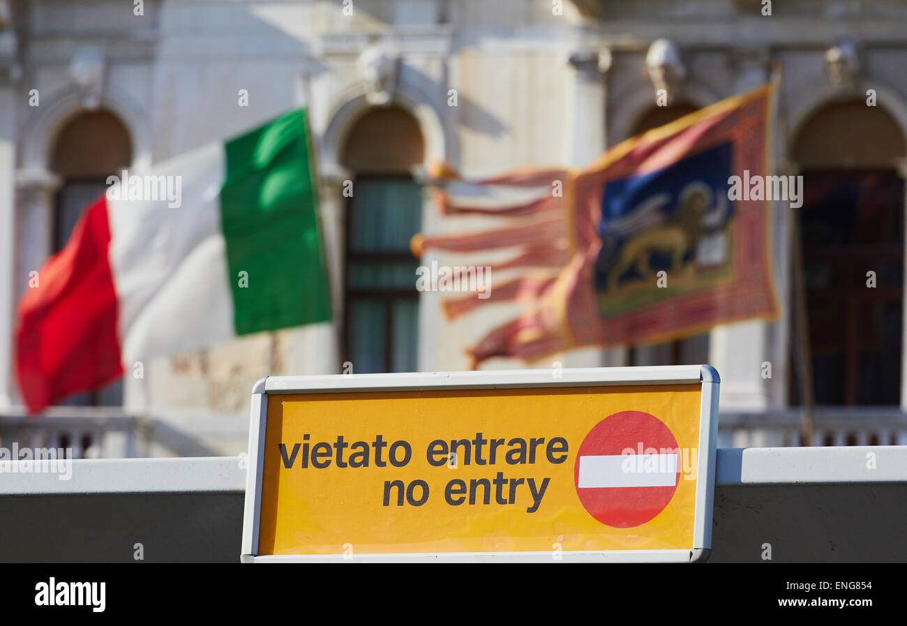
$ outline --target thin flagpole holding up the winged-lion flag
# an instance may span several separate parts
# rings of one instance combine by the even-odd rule
[[[784,142],[778,147],[785,151],[787,146],[787,107],[784,96],[783,66],[775,60],[772,64],[772,83],[775,84],[775,111],[777,112],[778,137]],[[785,153],[785,152],[782,152]],[[785,160],[785,170],[791,166]],[[788,171],[783,172],[785,174]],[[814,387],[813,359],[810,357],[809,316],[806,307],[805,262],[800,224],[800,210],[794,210],[791,218],[791,274],[794,284],[794,360],[797,371],[797,387],[800,390],[800,441],[801,445],[813,445],[814,430]]]

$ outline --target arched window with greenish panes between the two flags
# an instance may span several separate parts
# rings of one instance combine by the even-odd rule
[[[354,175],[346,198],[345,361],[356,373],[417,367],[418,292],[409,241],[422,227],[424,161],[413,116],[375,108],[354,124],[341,163]]]

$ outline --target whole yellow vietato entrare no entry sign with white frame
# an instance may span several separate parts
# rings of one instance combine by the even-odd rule
[[[267,377],[243,561],[697,561],[708,366]]]

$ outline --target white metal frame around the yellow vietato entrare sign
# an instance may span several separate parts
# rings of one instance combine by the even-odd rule
[[[391,553],[258,555],[258,523],[264,474],[268,395],[338,392],[386,392],[429,389],[489,389],[558,386],[678,385],[702,386],[699,408],[699,451],[696,513],[692,549],[563,551],[564,562],[702,562],[712,543],[712,508],[720,378],[708,365],[662,367],[576,367],[558,370],[518,369],[412,374],[351,374],[310,377],[264,377],[252,388],[249,417],[249,467],[242,523],[241,562],[551,562],[551,551],[502,553]],[[702,451],[707,451],[702,455]]]

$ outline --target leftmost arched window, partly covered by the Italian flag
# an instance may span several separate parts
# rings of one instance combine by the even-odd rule
[[[129,132],[112,113],[83,112],[56,136],[51,169],[61,186],[54,206],[54,252],[63,248],[82,211],[106,189],[107,177],[132,163]],[[122,406],[122,381],[73,396],[68,406]]]

